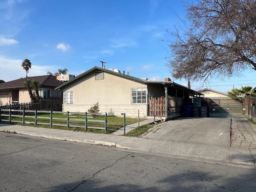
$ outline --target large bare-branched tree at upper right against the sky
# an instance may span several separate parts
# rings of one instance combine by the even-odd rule
[[[198,0],[189,21],[170,32],[168,66],[174,78],[206,80],[256,70],[256,0]]]

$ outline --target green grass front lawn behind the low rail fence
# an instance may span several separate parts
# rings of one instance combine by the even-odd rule
[[[88,115],[89,116],[89,115]],[[9,116],[1,116],[2,120],[9,120]],[[65,113],[52,113],[52,124],[58,124],[58,125],[52,125],[52,128],[54,129],[67,129],[67,114]],[[60,118],[60,119],[54,119],[54,118]],[[90,116],[87,118],[87,126],[91,127],[104,127],[104,122],[90,122],[89,120],[105,120],[104,116]],[[140,118],[140,121],[145,120],[144,118]],[[17,122],[19,121],[19,122]],[[35,114],[30,112],[26,113],[26,116],[24,118],[25,125],[26,126],[34,126],[35,122]],[[133,124],[138,122],[138,118],[127,118],[126,117],[126,125]],[[44,127],[44,128],[50,128],[50,113],[38,113],[37,114],[37,127]],[[2,121],[1,123],[9,123],[6,121]],[[42,123],[42,124],[40,124]],[[22,115],[21,116],[12,116],[11,117],[11,124],[21,124],[22,125]],[[46,125],[49,124],[49,125]],[[69,114],[69,128],[68,130],[73,131],[83,131],[85,132],[85,115],[84,114]],[[83,126],[76,127],[76,126]],[[116,116],[107,116],[107,131],[103,129],[94,129],[94,128],[88,128],[87,132],[93,132],[93,133],[112,133],[116,130],[122,128],[124,126],[124,118],[123,117],[116,117]]]

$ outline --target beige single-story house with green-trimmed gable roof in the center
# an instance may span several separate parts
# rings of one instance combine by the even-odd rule
[[[58,89],[64,93],[63,112],[87,112],[98,102],[100,112],[137,117],[140,110],[140,117],[146,118],[154,114],[165,118],[182,116],[190,97],[203,95],[169,78],[150,81],[97,66],[55,88]]]

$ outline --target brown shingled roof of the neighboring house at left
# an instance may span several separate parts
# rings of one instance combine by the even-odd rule
[[[43,75],[43,76],[20,78],[17,80],[0,83],[0,90],[24,88],[24,82],[28,79],[29,80],[38,80],[39,84],[41,84],[41,86],[57,87],[57,86],[60,86],[61,84],[63,84],[63,82],[57,80],[56,77],[53,75]]]

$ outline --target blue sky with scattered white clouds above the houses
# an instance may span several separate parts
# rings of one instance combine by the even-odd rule
[[[63,68],[77,76],[104,61],[106,69],[187,86],[170,75],[168,43],[162,41],[172,39],[166,30],[181,24],[176,14],[185,16],[180,0],[0,0],[0,79],[26,77],[24,59],[32,63],[28,76]],[[254,87],[255,74],[210,79],[207,88]],[[199,90],[202,82],[191,82],[191,88]]]

